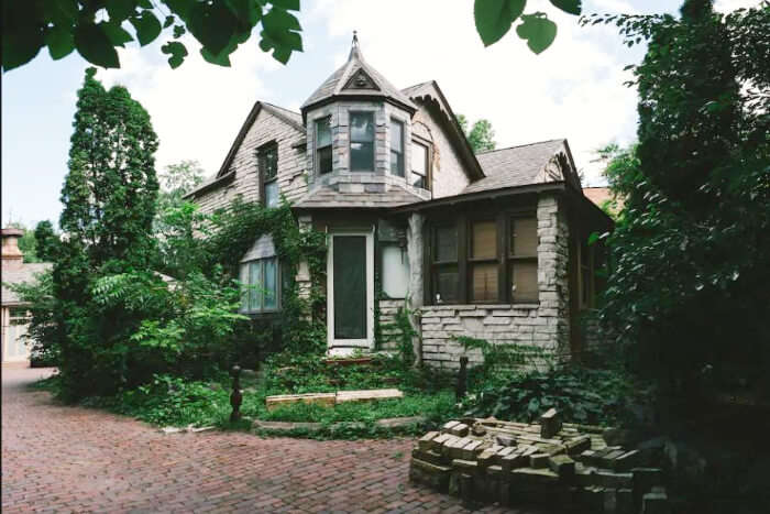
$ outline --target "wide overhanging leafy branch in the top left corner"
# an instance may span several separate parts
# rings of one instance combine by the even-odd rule
[[[299,0],[6,0],[2,6],[2,68],[32,61],[43,47],[61,59],[77,51],[106,68],[120,67],[118,47],[145,46],[163,34],[161,47],[176,68],[188,55],[179,40],[190,33],[209,63],[230,66],[230,54],[260,30],[260,47],[286,64],[302,51],[301,26],[290,11]]]

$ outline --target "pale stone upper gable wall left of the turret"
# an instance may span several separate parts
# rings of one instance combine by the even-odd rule
[[[260,177],[256,149],[271,141],[278,144],[278,192],[294,201],[307,192],[305,147],[298,146],[304,134],[284,120],[262,109],[235,152],[230,169],[235,177],[229,184],[215,187],[194,198],[202,212],[226,207],[237,195],[248,201],[260,199]]]

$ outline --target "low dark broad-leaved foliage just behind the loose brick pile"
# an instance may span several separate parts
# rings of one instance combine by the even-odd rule
[[[554,407],[565,422],[617,425],[631,418],[630,402],[648,394],[624,374],[575,367],[487,381],[465,398],[463,408],[469,416],[531,423]]]

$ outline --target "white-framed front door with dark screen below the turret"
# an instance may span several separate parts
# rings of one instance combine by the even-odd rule
[[[327,330],[330,350],[374,348],[374,238],[334,231],[327,261]]]

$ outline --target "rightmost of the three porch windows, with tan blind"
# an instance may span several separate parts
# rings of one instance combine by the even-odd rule
[[[510,220],[510,297],[514,302],[538,300],[538,220]]]

